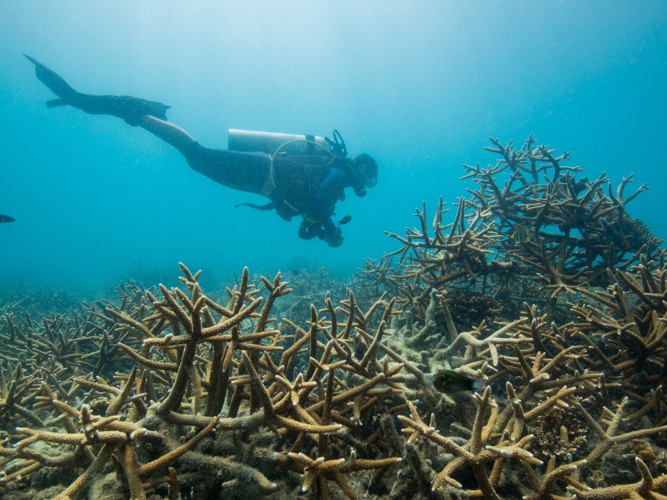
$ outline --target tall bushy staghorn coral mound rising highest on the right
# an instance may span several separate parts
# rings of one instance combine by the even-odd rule
[[[613,193],[604,173],[594,181],[577,179],[582,169],[564,165],[570,153],[554,157],[555,150],[536,145],[532,135],[520,149],[512,141],[490,140],[493,146],[484,149],[501,158],[486,169],[464,165],[462,178],[478,186],[467,189],[470,198],[458,198],[454,220],[444,223],[448,209],[441,198],[431,225],[424,203],[414,214],[419,228],[406,227],[405,237],[387,232],[403,246],[379,262],[367,259],[360,277],[369,288],[390,291],[422,321],[430,289],[445,285],[504,296],[507,305],[530,300],[554,313],[561,292],[579,285],[606,287],[606,269],[625,271],[642,253],[648,260],[659,255],[662,240],[626,208],[646,184],[626,197],[632,175]],[[504,185],[500,175],[507,175]],[[521,228],[528,230],[529,241],[512,237]]]

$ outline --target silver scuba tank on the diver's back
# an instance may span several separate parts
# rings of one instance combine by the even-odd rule
[[[254,130],[229,129],[229,139],[227,139],[227,149],[231,151],[245,151],[251,153],[260,151],[273,155],[275,150],[289,141],[299,141],[290,144],[289,152],[302,155],[326,155],[330,150],[324,137],[305,134],[283,134],[277,132],[259,132]],[[305,142],[311,141],[311,142]],[[326,148],[322,149],[312,143],[317,143]]]

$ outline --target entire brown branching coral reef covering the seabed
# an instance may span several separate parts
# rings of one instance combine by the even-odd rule
[[[223,301],[185,265],[57,313],[10,295],[3,497],[666,498],[667,267],[626,211],[646,186],[492,142],[454,221],[418,210],[344,297],[322,272],[262,298],[244,270]],[[438,393],[440,369],[486,388]]]

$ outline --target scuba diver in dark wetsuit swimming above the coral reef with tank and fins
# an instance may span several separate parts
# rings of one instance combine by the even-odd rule
[[[275,209],[286,221],[301,215],[299,237],[303,239],[317,237],[330,247],[342,245],[340,224],[350,219],[344,217],[338,226],[333,223],[336,203],[345,199],[346,187],[363,197],[366,188],[378,182],[376,161],[366,154],[348,158],[345,143],[336,130],[331,140],[230,129],[229,149],[208,148],[167,121],[165,113],[171,106],[125,95],[79,93],[51,69],[25,57],[35,65],[39,81],[59,97],[47,101],[47,107],[69,105],[92,115],[113,115],[133,127],[146,129],[175,147],[194,171],[232,189],[271,200],[266,205],[241,205]]]

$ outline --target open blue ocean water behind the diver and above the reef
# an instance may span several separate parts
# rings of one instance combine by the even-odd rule
[[[0,284],[86,288],[177,262],[224,276],[295,258],[352,272],[396,249],[383,231],[470,187],[488,135],[534,133],[570,165],[648,183],[628,207],[667,236],[667,3],[663,1],[1,2]],[[227,129],[330,135],[380,165],[337,217],[344,245],[298,221],[233,209],[263,199],[189,169],[143,129],[69,107],[27,53],[85,93],[172,106],[203,145]],[[452,214],[453,215],[453,214]]]

